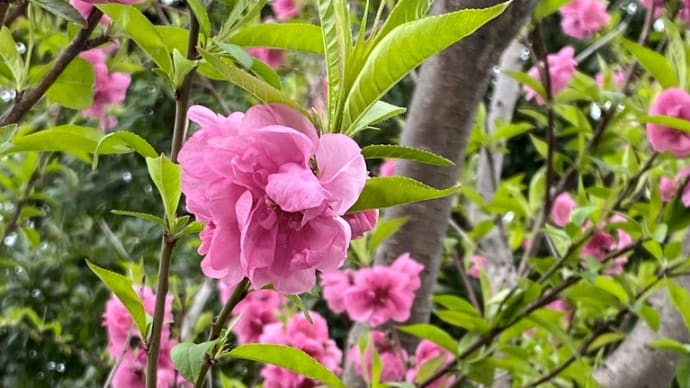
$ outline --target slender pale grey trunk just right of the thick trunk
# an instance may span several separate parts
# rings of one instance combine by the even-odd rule
[[[501,55],[498,64],[501,72],[496,76],[494,92],[491,96],[491,104],[486,118],[486,130],[490,134],[496,132],[498,122],[509,123],[513,118],[515,104],[520,97],[520,83],[504,72],[522,69],[524,62],[520,58],[524,49],[525,47],[521,43],[513,40]],[[482,149],[477,166],[476,188],[486,201],[491,201],[496,193],[498,182],[501,179],[502,166],[503,153]],[[470,221],[474,225],[486,219],[486,216],[474,203],[469,203],[467,210]],[[479,247],[481,254],[487,259],[486,271],[489,279],[491,279],[492,294],[502,288],[515,285],[517,270],[514,265],[513,253],[508,245],[508,237],[500,218],[496,220],[496,227],[479,242]]]

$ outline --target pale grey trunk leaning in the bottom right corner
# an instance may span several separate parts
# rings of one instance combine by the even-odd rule
[[[690,255],[690,232],[686,233],[683,241],[683,254]],[[690,277],[680,277],[676,283],[690,291]],[[683,323],[683,318],[671,304],[666,289],[650,297],[649,302],[659,312],[659,331],[655,332],[644,320],[639,320],[620,346],[594,373],[594,379],[602,387],[671,386],[676,372],[678,354],[653,349],[649,343],[662,337],[687,343],[690,341],[690,333]]]

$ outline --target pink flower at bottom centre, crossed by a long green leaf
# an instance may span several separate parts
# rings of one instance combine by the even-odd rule
[[[288,345],[304,351],[333,373],[340,373],[342,352],[335,341],[328,337],[328,324],[319,313],[310,311],[312,322],[303,314],[293,315],[286,326],[273,323],[266,326],[261,343]],[[275,365],[266,365],[261,370],[266,388],[317,387],[319,383]]]

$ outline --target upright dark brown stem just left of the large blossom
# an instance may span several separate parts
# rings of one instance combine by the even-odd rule
[[[196,45],[199,38],[199,23],[192,10],[189,10],[189,41],[187,42],[187,58],[196,57]],[[187,106],[189,95],[192,89],[193,71],[190,71],[184,78],[182,85],[175,91],[175,123],[173,126],[173,141],[170,149],[170,159],[173,163],[177,162],[177,155],[182,148],[187,134]],[[166,223],[169,224],[169,223]],[[165,298],[168,295],[168,278],[170,276],[170,262],[172,252],[175,248],[177,239],[168,230],[165,231],[161,241],[161,255],[158,266],[158,288],[156,290],[156,309],[153,315],[153,325],[151,327],[151,338],[148,348],[148,359],[146,364],[146,388],[155,388],[158,379],[158,354],[160,353],[161,333],[163,331],[163,319],[165,315]]]

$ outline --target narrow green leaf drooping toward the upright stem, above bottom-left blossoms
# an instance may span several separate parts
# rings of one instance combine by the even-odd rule
[[[141,338],[146,338],[148,335],[146,312],[144,311],[144,305],[141,303],[141,298],[139,298],[139,295],[137,295],[137,293],[134,292],[134,288],[132,288],[132,282],[126,277],[105,268],[101,268],[89,260],[86,260],[86,265],[89,266],[91,271],[93,271],[93,273],[105,283],[105,286],[117,296],[120,302],[122,302],[132,316],[134,324],[139,329]]]

